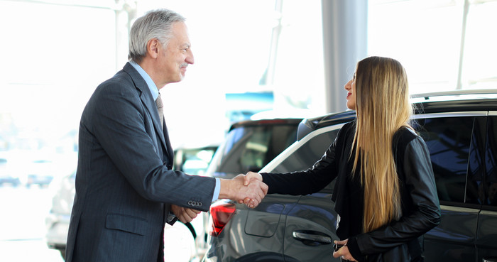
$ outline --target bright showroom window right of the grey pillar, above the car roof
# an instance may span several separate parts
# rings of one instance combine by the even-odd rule
[[[496,11],[493,0],[369,0],[368,55],[403,63],[413,93],[496,88]]]

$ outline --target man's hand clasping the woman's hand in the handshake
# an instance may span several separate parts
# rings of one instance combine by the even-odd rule
[[[237,175],[231,180],[221,179],[221,190],[219,198],[227,198],[239,203],[245,199],[250,199],[246,203],[248,207],[257,207],[268,193],[268,185],[260,180],[252,180],[249,185],[244,185],[244,175]]]

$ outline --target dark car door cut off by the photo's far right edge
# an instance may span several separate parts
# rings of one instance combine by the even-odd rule
[[[482,210],[476,235],[476,261],[497,261],[497,111],[488,114],[485,143],[485,175],[482,181]]]

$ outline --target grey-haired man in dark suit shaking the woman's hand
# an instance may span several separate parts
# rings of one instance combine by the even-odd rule
[[[190,222],[213,200],[252,200],[266,184],[171,170],[173,149],[158,89],[185,77],[194,59],[185,18],[161,9],[133,24],[130,62],[97,87],[80,122],[76,195],[66,261],[163,261],[163,228]],[[197,210],[195,210],[197,209]]]

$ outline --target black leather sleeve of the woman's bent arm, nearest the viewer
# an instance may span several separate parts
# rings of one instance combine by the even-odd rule
[[[360,251],[362,256],[383,253],[416,239],[439,224],[441,214],[435,178],[430,153],[422,138],[416,136],[408,143],[402,162],[405,180],[403,194],[408,194],[408,198],[412,199],[411,203],[406,203],[403,217],[380,229],[349,239],[349,250]]]

